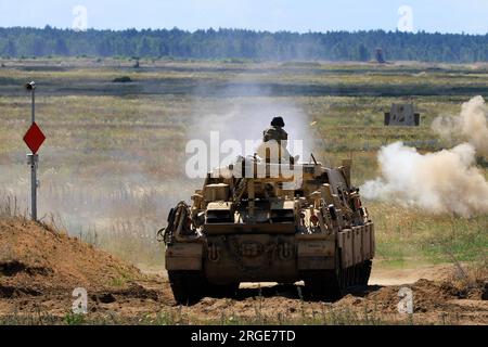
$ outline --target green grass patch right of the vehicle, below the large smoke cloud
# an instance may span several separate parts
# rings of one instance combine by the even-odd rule
[[[376,224],[377,256],[390,266],[474,261],[486,257],[488,216],[432,216],[401,206],[369,204]]]

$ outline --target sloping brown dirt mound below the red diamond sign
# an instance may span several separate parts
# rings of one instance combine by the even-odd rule
[[[0,296],[124,287],[140,271],[76,237],[24,219],[0,220]]]

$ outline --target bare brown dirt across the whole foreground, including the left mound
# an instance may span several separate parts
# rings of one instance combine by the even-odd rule
[[[308,301],[300,283],[242,284],[233,298],[179,307],[164,273],[142,273],[44,226],[0,221],[0,323],[488,324],[486,283],[460,286],[449,265],[375,269],[370,285],[336,303]],[[85,316],[70,311],[80,286],[88,292]],[[412,290],[413,314],[398,313],[402,286]]]

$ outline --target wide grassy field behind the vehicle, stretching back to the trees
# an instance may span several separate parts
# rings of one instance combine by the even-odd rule
[[[22,137],[30,99],[22,85],[35,80],[37,120],[48,137],[40,151],[40,216],[149,267],[163,265],[155,232],[169,207],[202,184],[184,176],[187,141],[219,128],[219,121],[226,131],[258,139],[274,113],[295,118],[299,125],[286,128],[291,137],[304,137],[325,163],[351,157],[359,185],[377,175],[382,145],[448,147],[431,130],[432,120],[457,115],[474,95],[488,98],[488,65],[141,61],[132,68],[127,60],[97,59],[2,64],[0,193],[16,196],[13,205],[26,213],[29,171]],[[113,82],[123,76],[132,82]],[[383,113],[404,101],[415,103],[421,127],[384,127]],[[258,119],[258,127],[246,127],[246,119]],[[488,178],[488,169],[479,168]],[[466,219],[391,203],[368,206],[384,266],[487,256],[487,215]]]

